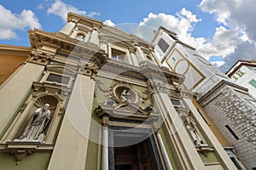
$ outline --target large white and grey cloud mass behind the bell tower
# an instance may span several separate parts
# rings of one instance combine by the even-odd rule
[[[192,36],[196,23],[201,19],[186,8],[176,15],[150,13],[133,30],[133,33],[149,42],[153,32],[159,26],[164,26],[176,32],[181,41],[196,48],[206,59],[210,59],[211,56],[222,57],[224,61],[214,63],[222,71],[229,69],[228,67],[237,59],[256,59],[256,55],[252,56],[252,53],[248,56],[248,51],[256,51],[256,22],[252,17],[255,15],[256,3],[253,3],[253,0],[202,0],[200,7],[205,12],[215,14],[215,19],[220,25],[215,28],[216,31],[211,39]]]

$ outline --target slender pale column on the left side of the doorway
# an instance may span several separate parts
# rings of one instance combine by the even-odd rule
[[[108,170],[108,118],[102,119],[102,170]]]

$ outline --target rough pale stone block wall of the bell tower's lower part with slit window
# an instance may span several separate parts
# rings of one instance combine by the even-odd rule
[[[247,97],[250,98],[224,85],[201,100],[201,105],[228,142],[235,147],[241,161],[252,168],[256,167],[256,109],[247,101]]]

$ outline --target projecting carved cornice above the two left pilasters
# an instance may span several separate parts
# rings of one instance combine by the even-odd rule
[[[30,60],[35,62],[38,62],[38,59],[40,58],[43,58],[43,60],[52,60],[55,57],[55,54],[61,54],[66,60],[69,57],[73,58],[77,62],[81,62],[85,67],[87,62],[91,62],[100,68],[108,59],[105,51],[99,48],[96,44],[91,42],[80,42],[60,32],[48,33],[35,29],[34,31],[29,31],[29,37],[32,48],[34,48],[35,51],[33,58]],[[54,52],[52,54],[44,54],[44,52],[46,52],[44,46],[55,50],[53,50]],[[44,65],[45,62],[43,63]],[[89,69],[91,70],[91,67]]]

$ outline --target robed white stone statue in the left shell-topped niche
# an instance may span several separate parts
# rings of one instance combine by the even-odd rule
[[[38,140],[43,141],[45,129],[50,120],[49,104],[38,108],[30,118],[23,133],[20,135],[21,140]]]

